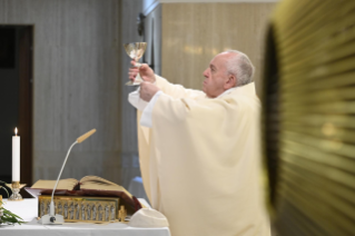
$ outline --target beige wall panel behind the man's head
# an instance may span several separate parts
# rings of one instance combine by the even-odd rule
[[[264,35],[275,3],[162,3],[161,75],[200,89],[203,71],[226,49],[249,56],[260,90]]]

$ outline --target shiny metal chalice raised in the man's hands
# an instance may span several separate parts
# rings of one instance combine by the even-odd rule
[[[130,42],[130,43],[124,43],[125,50],[127,52],[127,55],[136,61],[136,66],[135,67],[141,67],[141,63],[138,62],[138,60],[142,57],[142,55],[145,53],[146,49],[147,49],[147,42]],[[138,86],[140,85],[140,82],[142,82],[144,80],[141,79],[141,77],[139,76],[139,73],[137,75],[135,81],[128,81],[126,82],[126,86]]]

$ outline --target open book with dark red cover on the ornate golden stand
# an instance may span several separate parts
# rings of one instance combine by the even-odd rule
[[[24,189],[33,197],[38,197],[39,195],[51,195],[55,186],[56,180],[40,179],[32,187]],[[119,197],[135,209],[141,208],[137,198],[122,186],[97,176],[86,176],[80,180],[73,178],[61,179],[58,183],[55,195]]]

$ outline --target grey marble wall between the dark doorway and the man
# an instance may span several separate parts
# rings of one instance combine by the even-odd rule
[[[97,175],[128,187],[139,174],[121,42],[138,40],[140,8],[141,0],[0,0],[0,24],[34,26],[33,181],[56,179],[69,146],[92,128],[62,178]]]

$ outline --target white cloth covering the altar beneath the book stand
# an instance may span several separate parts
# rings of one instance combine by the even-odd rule
[[[144,199],[139,199],[149,206]],[[0,226],[0,236],[170,236],[168,227],[162,228],[135,228],[124,223],[92,224],[92,223],[65,223],[63,225],[40,225],[37,223],[37,198],[22,201],[3,200],[4,208],[28,222],[22,225]]]

